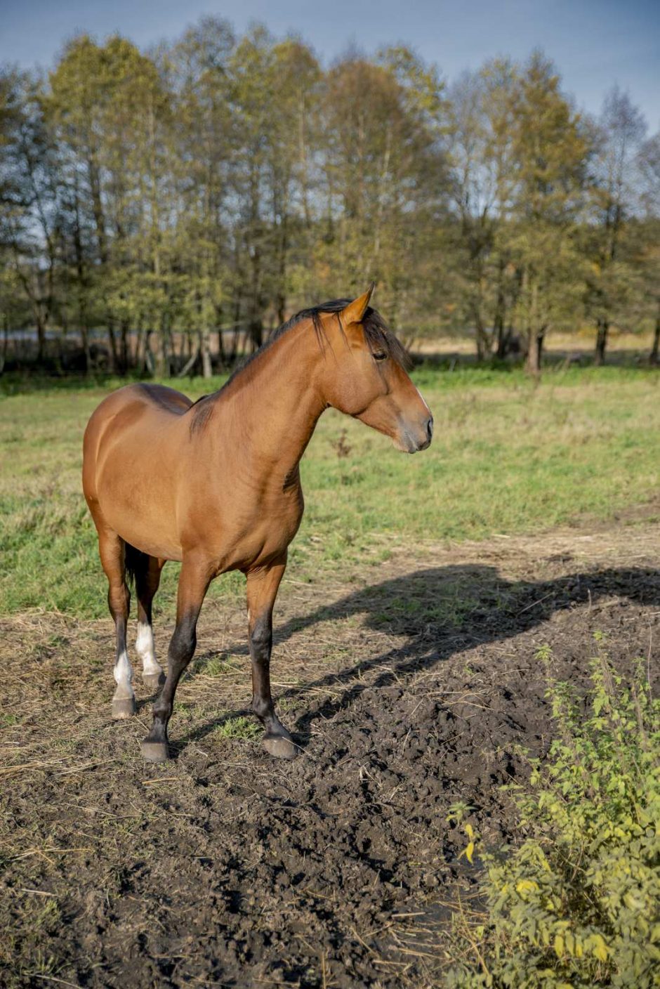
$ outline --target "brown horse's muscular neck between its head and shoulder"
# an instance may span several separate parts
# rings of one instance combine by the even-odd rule
[[[294,472],[326,407],[314,374],[324,357],[311,326],[292,326],[258,355],[228,394],[236,439],[254,469],[276,486]]]

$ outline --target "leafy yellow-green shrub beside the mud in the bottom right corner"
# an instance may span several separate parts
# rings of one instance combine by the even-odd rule
[[[660,986],[660,702],[642,663],[625,684],[597,638],[586,698],[549,681],[557,736],[511,787],[525,840],[481,855],[485,921],[454,915],[471,959],[455,989]]]

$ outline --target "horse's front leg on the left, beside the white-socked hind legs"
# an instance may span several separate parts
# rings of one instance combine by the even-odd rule
[[[184,557],[177,594],[177,624],[167,657],[167,679],[153,705],[151,731],[142,742],[142,756],[150,763],[163,763],[169,756],[167,724],[172,716],[174,694],[195,653],[197,620],[211,577],[212,570],[206,560]]]

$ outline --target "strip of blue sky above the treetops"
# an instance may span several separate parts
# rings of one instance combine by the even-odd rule
[[[0,0],[0,61],[51,64],[79,31],[119,31],[141,47],[176,38],[204,14],[238,31],[261,21],[299,34],[325,63],[348,45],[405,42],[446,79],[486,58],[541,47],[579,107],[598,112],[614,83],[660,129],[660,0]]]

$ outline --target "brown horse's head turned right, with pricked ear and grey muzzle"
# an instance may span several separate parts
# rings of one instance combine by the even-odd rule
[[[372,289],[324,316],[325,401],[389,436],[403,453],[426,450],[433,415],[404,368],[405,350],[369,306]]]

